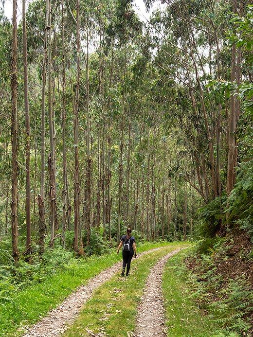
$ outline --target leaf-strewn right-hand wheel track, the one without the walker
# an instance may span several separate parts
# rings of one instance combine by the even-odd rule
[[[178,248],[163,256],[150,270],[144,294],[138,307],[135,337],[165,337],[164,306],[162,293],[163,269],[170,257],[178,253]]]

